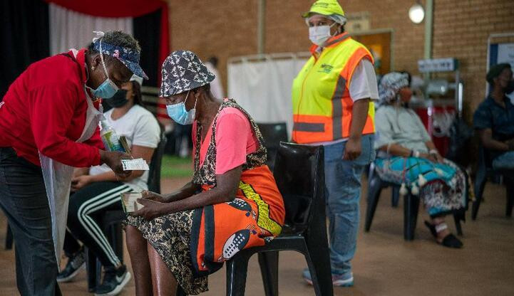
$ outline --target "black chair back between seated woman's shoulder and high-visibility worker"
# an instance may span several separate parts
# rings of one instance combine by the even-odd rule
[[[287,126],[285,122],[279,123],[257,123],[264,138],[264,146],[267,149],[267,165],[273,171],[275,158],[280,142],[287,142]]]

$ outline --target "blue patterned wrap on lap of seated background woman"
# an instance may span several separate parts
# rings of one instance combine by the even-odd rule
[[[398,185],[405,183],[410,189],[413,185],[419,187],[420,175],[423,176],[426,184],[419,192],[431,216],[467,208],[467,176],[447,159],[442,164],[434,164],[416,157],[391,157],[376,159],[375,165],[382,180]]]

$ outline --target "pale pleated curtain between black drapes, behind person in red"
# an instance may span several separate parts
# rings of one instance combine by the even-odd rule
[[[101,7],[98,7],[101,9]],[[133,33],[132,18],[101,18],[80,14],[56,4],[50,4],[50,53],[55,55],[69,48],[89,46],[93,31],[123,31]]]

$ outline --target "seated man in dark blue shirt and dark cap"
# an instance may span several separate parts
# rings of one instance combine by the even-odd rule
[[[493,65],[486,80],[490,93],[478,105],[473,125],[493,168],[514,169],[514,105],[505,95],[514,91],[513,70],[508,63]]]

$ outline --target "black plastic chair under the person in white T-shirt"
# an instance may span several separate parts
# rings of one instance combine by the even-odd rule
[[[160,168],[163,161],[164,147],[166,145],[166,137],[164,134],[160,137],[158,147],[153,153],[148,171],[148,190],[160,193]],[[102,216],[101,225],[103,231],[106,233],[110,245],[113,246],[114,253],[123,262],[123,233],[121,222],[125,220],[125,213],[123,211],[106,211]],[[101,280],[102,265],[96,255],[86,249],[86,268],[88,272],[88,290],[94,292],[96,286]]]

